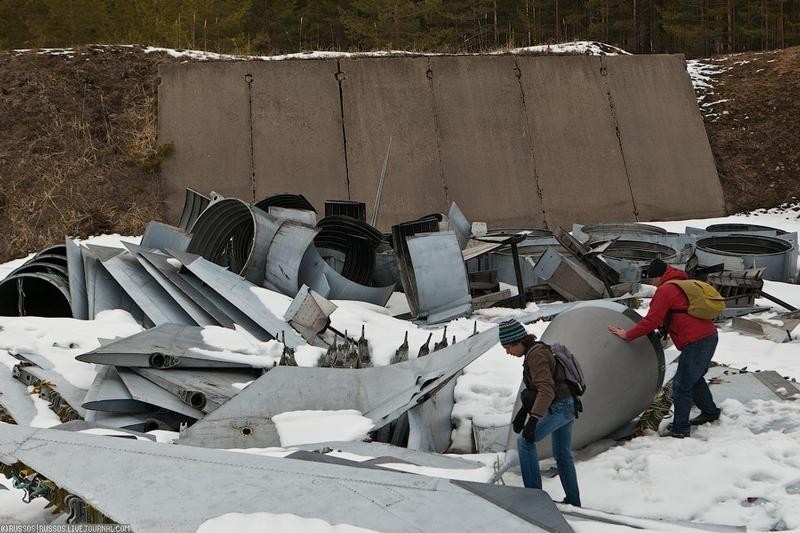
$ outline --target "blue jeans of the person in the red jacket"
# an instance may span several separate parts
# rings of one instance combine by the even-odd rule
[[[675,409],[672,431],[689,433],[692,403],[707,415],[716,415],[720,411],[703,377],[708,372],[717,340],[714,334],[687,344],[678,356],[678,371],[672,380],[672,404]]]

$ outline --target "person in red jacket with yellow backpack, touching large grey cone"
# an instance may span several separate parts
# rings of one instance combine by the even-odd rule
[[[623,340],[632,341],[658,329],[662,324],[668,326],[672,342],[681,353],[678,370],[672,381],[675,416],[672,428],[664,436],[684,438],[689,436],[691,426],[713,422],[721,412],[703,377],[717,347],[717,328],[711,320],[688,314],[689,299],[686,294],[677,285],[666,283],[673,279],[688,279],[686,272],[654,259],[647,267],[647,277],[658,287],[650,301],[647,316],[627,331],[619,326],[608,326],[608,330]],[[692,403],[701,413],[690,421]]]

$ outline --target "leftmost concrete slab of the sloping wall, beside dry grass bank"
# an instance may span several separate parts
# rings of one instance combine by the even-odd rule
[[[253,201],[245,75],[251,63],[159,68],[158,142],[175,151],[161,166],[167,216],[180,217],[185,188]]]

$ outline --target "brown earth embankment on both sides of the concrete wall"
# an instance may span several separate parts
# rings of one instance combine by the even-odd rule
[[[158,64],[141,47],[0,52],[0,262],[162,219]],[[706,130],[729,212],[800,199],[800,48],[712,61]]]

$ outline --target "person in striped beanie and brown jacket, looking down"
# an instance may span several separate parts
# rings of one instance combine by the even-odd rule
[[[513,318],[500,324],[499,337],[507,354],[523,358],[522,408],[512,421],[514,432],[521,432],[517,438],[517,452],[522,482],[527,488],[542,488],[536,443],[551,435],[553,457],[566,495],[562,503],[580,507],[581,495],[571,451],[575,403],[564,369],[556,363],[547,345],[536,342],[536,336],[529,334]]]

